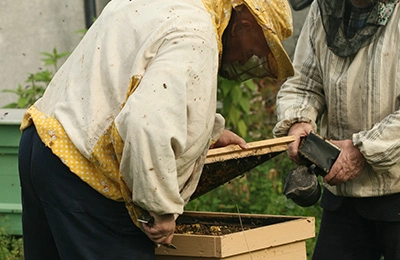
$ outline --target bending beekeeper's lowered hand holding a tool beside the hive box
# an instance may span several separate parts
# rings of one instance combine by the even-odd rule
[[[146,235],[156,244],[170,245],[175,231],[175,218],[173,214],[157,215],[150,212],[154,217],[154,223],[142,224]]]

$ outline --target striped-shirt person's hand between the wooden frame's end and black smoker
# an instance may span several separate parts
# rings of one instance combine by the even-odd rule
[[[288,144],[287,154],[289,158],[296,164],[304,164],[304,160],[301,159],[298,154],[300,139],[307,136],[311,131],[313,131],[311,124],[304,122],[296,123],[292,125],[289,129],[288,135],[293,135],[295,137],[295,140]]]

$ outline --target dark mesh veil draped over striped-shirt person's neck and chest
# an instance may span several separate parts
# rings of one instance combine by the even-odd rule
[[[376,1],[369,14],[363,17],[363,26],[361,28],[352,27],[354,31],[346,33],[344,29],[348,28],[345,24],[346,19],[356,15],[352,15],[354,10],[351,10],[351,4],[346,4],[347,1],[318,0],[328,47],[340,57],[353,56],[360,48],[376,39],[374,35],[387,24],[399,2],[399,0]]]

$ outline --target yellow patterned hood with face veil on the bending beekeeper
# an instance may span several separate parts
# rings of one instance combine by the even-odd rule
[[[292,13],[287,0],[202,0],[210,12],[222,56],[222,36],[228,26],[232,9],[245,5],[261,26],[265,40],[272,52],[271,57],[252,57],[246,64],[222,64],[220,75],[242,80],[251,75],[267,75],[285,79],[293,75],[293,66],[282,41],[293,32]],[[268,61],[265,59],[268,58]],[[272,66],[274,65],[274,66]],[[258,77],[258,76],[257,76]]]

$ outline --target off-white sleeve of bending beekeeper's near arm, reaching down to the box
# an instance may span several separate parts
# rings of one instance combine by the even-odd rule
[[[116,118],[124,181],[133,202],[157,214],[183,212],[180,190],[214,127],[218,54],[199,35],[172,32],[146,53],[151,62]]]

